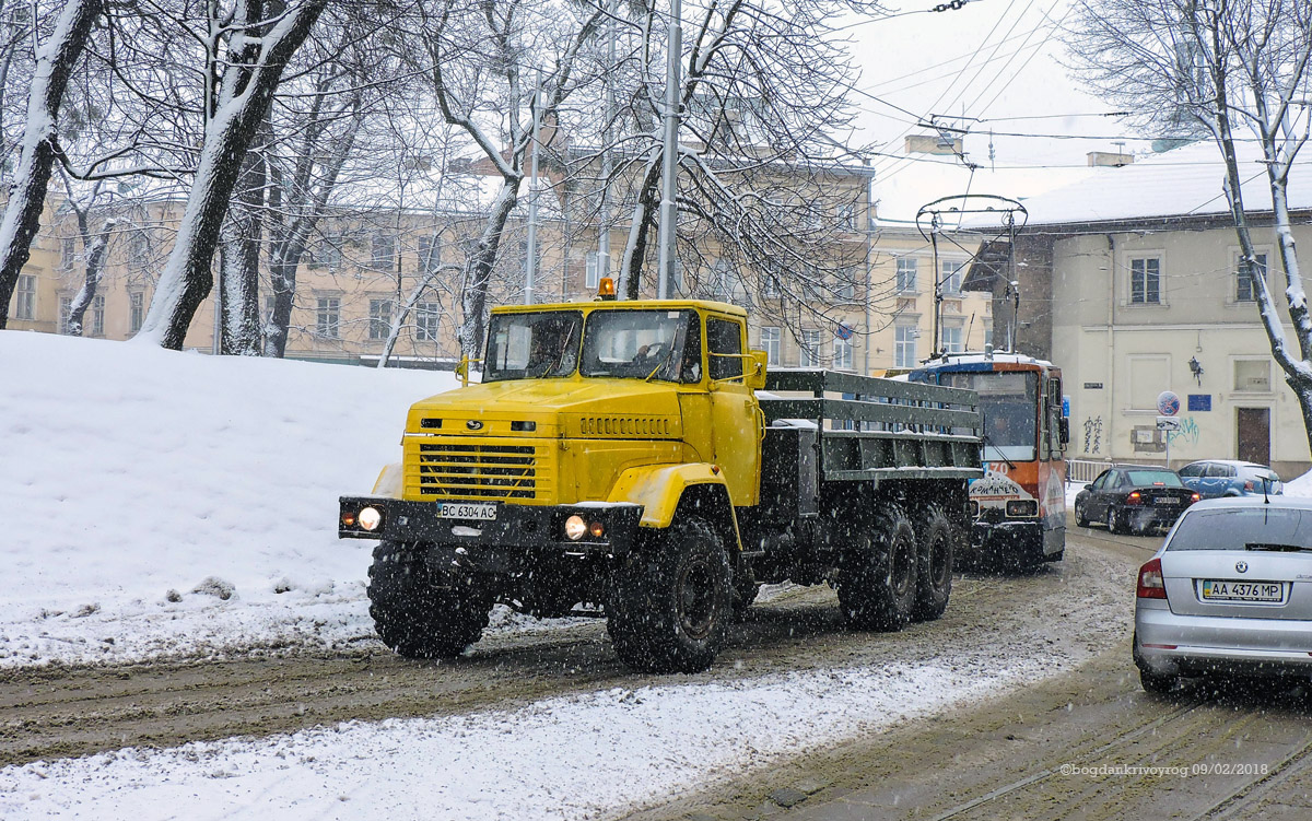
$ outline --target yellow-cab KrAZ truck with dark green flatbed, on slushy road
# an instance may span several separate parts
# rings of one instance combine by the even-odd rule
[[[828,582],[858,630],[942,614],[981,475],[975,393],[768,376],[747,340],[716,302],[496,308],[482,383],[416,403],[401,463],[341,498],[338,534],[380,540],[383,641],[451,657],[496,602],[594,602],[627,665],[697,671],[761,582]]]

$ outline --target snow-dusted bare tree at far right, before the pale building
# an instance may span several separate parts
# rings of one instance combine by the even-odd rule
[[[1257,290],[1271,353],[1284,371],[1312,443],[1312,315],[1290,223],[1290,170],[1312,127],[1312,4],[1304,0],[1081,0],[1071,45],[1077,68],[1140,119],[1206,134],[1225,165],[1223,188]],[[1257,265],[1253,220],[1236,142],[1250,134],[1262,150],[1284,274],[1286,338],[1266,271]],[[1261,174],[1262,172],[1257,172]],[[1263,202],[1265,205],[1265,202]],[[1265,210],[1265,209],[1261,209]]]

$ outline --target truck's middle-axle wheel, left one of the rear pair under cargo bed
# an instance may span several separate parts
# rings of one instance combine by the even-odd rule
[[[887,505],[875,526],[849,526],[838,561],[838,605],[857,630],[901,630],[916,605],[916,531],[901,508]]]

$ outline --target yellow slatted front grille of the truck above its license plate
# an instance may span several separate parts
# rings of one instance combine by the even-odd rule
[[[535,498],[538,464],[522,445],[434,442],[419,446],[419,492],[451,498]]]

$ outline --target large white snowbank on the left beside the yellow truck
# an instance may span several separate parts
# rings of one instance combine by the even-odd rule
[[[337,496],[451,374],[0,332],[0,666],[371,639]]]

